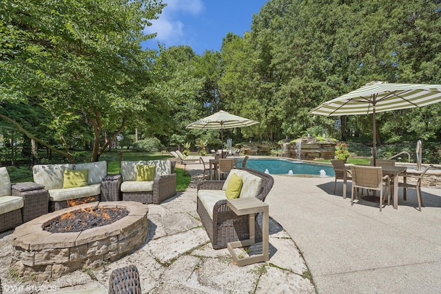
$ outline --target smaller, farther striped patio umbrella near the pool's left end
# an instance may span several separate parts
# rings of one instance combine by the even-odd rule
[[[223,129],[231,129],[233,127],[248,127],[259,123],[256,120],[235,116],[220,110],[211,116],[201,118],[200,120],[190,123],[186,129],[220,129],[220,142],[223,146]]]

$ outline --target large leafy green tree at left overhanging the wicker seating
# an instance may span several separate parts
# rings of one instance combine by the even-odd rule
[[[161,1],[3,1],[0,4],[0,102],[30,103],[50,114],[52,130],[76,120],[92,126],[92,160],[152,103],[142,95],[150,83],[152,54],[143,28],[161,12]],[[74,158],[0,116],[25,136]],[[56,136],[67,148],[61,136]],[[108,140],[107,142],[109,142]]]

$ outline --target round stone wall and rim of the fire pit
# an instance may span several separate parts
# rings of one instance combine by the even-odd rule
[[[43,227],[54,219],[87,207],[127,209],[121,220],[77,233],[50,233]],[[38,280],[61,277],[83,267],[100,266],[138,249],[148,235],[148,207],[140,202],[92,202],[48,213],[21,224],[12,233],[12,268]]]

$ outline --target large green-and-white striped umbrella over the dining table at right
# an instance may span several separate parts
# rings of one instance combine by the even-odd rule
[[[364,87],[322,103],[311,114],[343,116],[372,114],[373,165],[376,165],[376,113],[422,107],[441,101],[441,85],[371,82]]]

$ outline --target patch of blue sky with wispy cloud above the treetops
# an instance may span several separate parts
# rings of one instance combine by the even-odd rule
[[[146,28],[146,33],[157,32],[155,39],[144,47],[158,49],[158,42],[189,45],[196,54],[205,50],[219,51],[228,32],[243,36],[251,30],[253,14],[269,0],[163,0],[167,6],[159,19]]]

